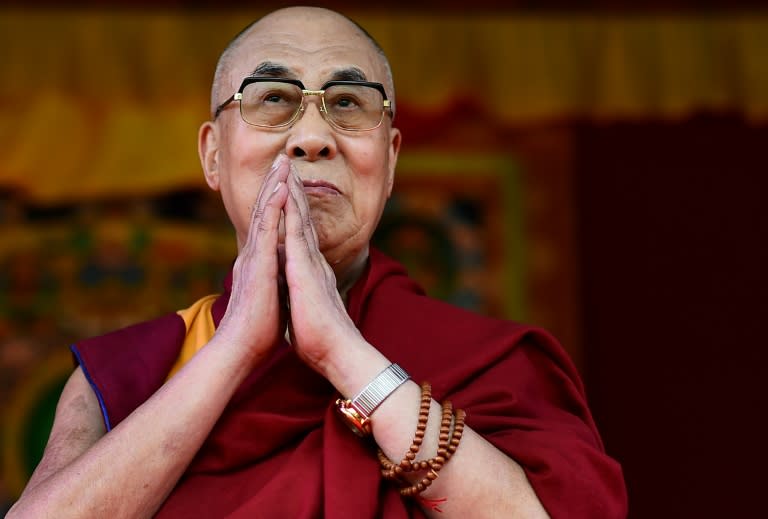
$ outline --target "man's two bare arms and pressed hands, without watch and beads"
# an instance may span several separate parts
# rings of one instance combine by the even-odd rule
[[[66,510],[66,517],[154,515],[244,376],[286,329],[297,355],[344,396],[356,394],[391,363],[347,314],[336,275],[320,251],[302,181],[283,156],[262,184],[235,261],[227,311],[208,346],[110,434],[77,370],[62,394],[46,455],[10,516],[49,516],[51,510]],[[408,449],[419,398],[418,385],[408,381],[376,410],[373,438],[390,459]],[[441,423],[434,400],[428,422],[421,451],[434,454]],[[471,428],[464,429],[456,454],[428,489],[429,495],[450,496],[441,517],[477,510],[506,517],[513,509],[524,517],[547,517],[520,466]]]

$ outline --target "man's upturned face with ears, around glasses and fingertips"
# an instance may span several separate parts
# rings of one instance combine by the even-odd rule
[[[384,65],[370,42],[324,11],[263,19],[235,56],[226,96],[257,69],[259,75],[283,69],[269,75],[299,79],[309,90],[350,73],[386,85]],[[201,128],[201,158],[242,246],[262,181],[275,158],[287,155],[304,181],[320,249],[334,270],[343,270],[364,253],[379,221],[392,188],[400,134],[389,116],[370,131],[335,129],[323,119],[319,103],[316,96],[306,98],[298,121],[273,129],[246,124],[238,103],[231,103]]]

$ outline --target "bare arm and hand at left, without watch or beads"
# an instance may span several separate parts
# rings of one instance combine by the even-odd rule
[[[230,305],[211,341],[108,434],[96,397],[76,370],[45,455],[8,517],[116,519],[158,510],[232,394],[284,330],[276,250],[286,175],[275,168],[265,179],[235,263]]]

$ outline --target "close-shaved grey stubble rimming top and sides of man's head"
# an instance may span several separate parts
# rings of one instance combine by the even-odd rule
[[[387,97],[392,102],[392,115],[395,108],[395,88],[392,79],[392,69],[389,65],[384,50],[378,42],[368,32],[356,22],[346,16],[320,7],[287,7],[273,11],[262,18],[255,20],[238,33],[221,53],[219,61],[216,64],[216,72],[213,78],[211,88],[211,115],[213,116],[216,107],[227,97],[232,95],[238,88],[240,81],[244,76],[233,77],[236,65],[239,61],[247,58],[248,43],[257,38],[264,31],[274,29],[280,26],[284,32],[293,34],[304,34],[305,29],[310,25],[323,24],[328,27],[329,32],[333,33],[334,26],[337,28],[352,29],[360,35],[365,45],[370,47],[375,54],[379,66],[384,72],[384,77],[380,80],[384,84]]]

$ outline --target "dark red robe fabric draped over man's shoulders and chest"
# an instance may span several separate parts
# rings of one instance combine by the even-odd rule
[[[216,324],[230,287],[213,305]],[[551,517],[626,516],[621,468],[603,450],[576,370],[546,332],[429,299],[376,250],[348,311],[371,344],[431,382],[436,399],[465,409],[466,423],[524,468]],[[169,314],[73,345],[108,429],[163,384],[184,335]],[[375,445],[338,419],[337,397],[281,344],[236,392],[157,516],[423,517],[381,478]]]

